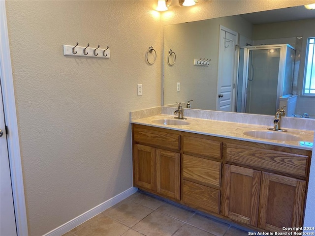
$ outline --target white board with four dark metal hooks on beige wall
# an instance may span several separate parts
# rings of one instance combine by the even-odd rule
[[[106,49],[97,47],[91,47],[88,43],[87,46],[78,46],[77,42],[75,46],[63,45],[64,56],[74,57],[88,57],[88,58],[110,58],[109,46]]]

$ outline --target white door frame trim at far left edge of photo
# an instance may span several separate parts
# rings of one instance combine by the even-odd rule
[[[0,66],[4,118],[9,130],[9,134],[6,138],[10,161],[16,228],[18,236],[28,236],[21,152],[4,0],[0,0]]]

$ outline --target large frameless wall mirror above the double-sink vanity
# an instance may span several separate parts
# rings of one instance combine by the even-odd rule
[[[165,26],[163,105],[315,118],[303,91],[314,26],[304,6]]]

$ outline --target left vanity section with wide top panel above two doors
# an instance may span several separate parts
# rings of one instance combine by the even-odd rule
[[[180,200],[179,135],[133,126],[133,142],[133,185]]]

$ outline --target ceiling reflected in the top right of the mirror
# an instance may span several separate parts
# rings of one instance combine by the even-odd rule
[[[315,18],[315,10],[308,10],[304,6],[294,6],[276,10],[243,14],[240,16],[256,25]]]

